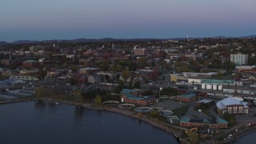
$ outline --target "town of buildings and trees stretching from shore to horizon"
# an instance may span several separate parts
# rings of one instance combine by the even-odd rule
[[[133,111],[192,143],[231,142],[256,126],[256,38],[5,43],[0,50],[1,103],[50,98]]]

